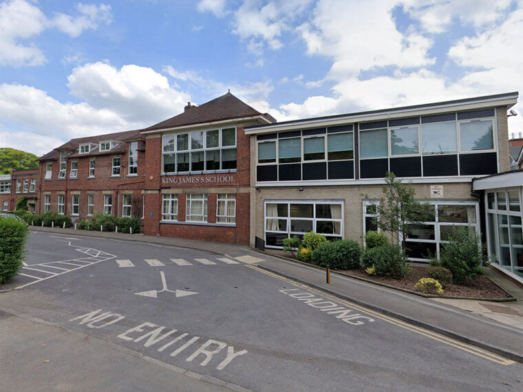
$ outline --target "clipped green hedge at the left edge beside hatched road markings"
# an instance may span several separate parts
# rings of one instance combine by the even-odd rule
[[[25,257],[28,232],[23,221],[0,217],[0,283],[18,274]]]

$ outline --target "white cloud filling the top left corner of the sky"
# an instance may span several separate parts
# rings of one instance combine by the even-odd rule
[[[111,7],[78,4],[77,14],[56,14],[48,19],[32,3],[10,0],[0,4],[0,65],[34,66],[45,63],[45,55],[34,43],[21,43],[41,34],[47,28],[58,28],[70,36],[84,30],[96,30],[99,23],[111,22]]]

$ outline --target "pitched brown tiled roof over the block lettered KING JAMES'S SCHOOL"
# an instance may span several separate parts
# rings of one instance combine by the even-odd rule
[[[185,125],[254,116],[264,116],[270,122],[274,121],[272,117],[260,113],[228,92],[203,105],[187,109],[184,113],[178,114],[178,116],[171,117],[168,120],[142,129],[142,131],[156,131],[156,129],[183,127]]]

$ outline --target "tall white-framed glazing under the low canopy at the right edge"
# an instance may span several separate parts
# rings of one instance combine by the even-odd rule
[[[485,193],[489,257],[523,279],[523,187]]]

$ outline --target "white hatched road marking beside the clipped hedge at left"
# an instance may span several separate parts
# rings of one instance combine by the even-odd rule
[[[55,236],[50,236],[50,237],[55,237]],[[46,281],[47,279],[54,278],[54,276],[60,276],[62,274],[67,274],[67,272],[80,270],[81,268],[87,267],[89,265],[100,263],[100,261],[106,261],[106,260],[114,259],[116,257],[114,254],[103,252],[102,250],[86,248],[85,246],[74,245],[71,243],[71,241],[65,241],[66,239],[74,239],[76,241],[81,241],[80,239],[68,238],[68,237],[58,237],[58,238],[62,238],[62,239],[56,239],[55,241],[65,242],[65,243],[67,243],[67,246],[74,248],[74,250],[78,250],[78,252],[85,254],[87,257],[79,257],[78,259],[67,259],[67,260],[60,260],[60,261],[50,261],[48,263],[30,264],[27,266],[23,265],[23,267],[21,269],[21,273],[19,275],[34,279],[34,281],[25,283],[24,285],[20,285],[18,287],[14,287],[15,289],[21,289],[25,286],[32,285],[34,283],[39,283],[41,281]],[[74,261],[76,263],[72,263],[72,261]],[[60,265],[60,267],[56,267],[55,265],[52,265],[52,264],[58,264],[58,265]],[[55,270],[59,270],[59,272],[50,272],[50,271],[45,270],[45,268],[54,268]],[[34,271],[43,272],[43,273],[47,274],[48,276],[45,276],[45,278],[41,278],[39,276],[24,274],[23,272],[25,272],[25,270],[29,270],[29,271],[34,270]]]

